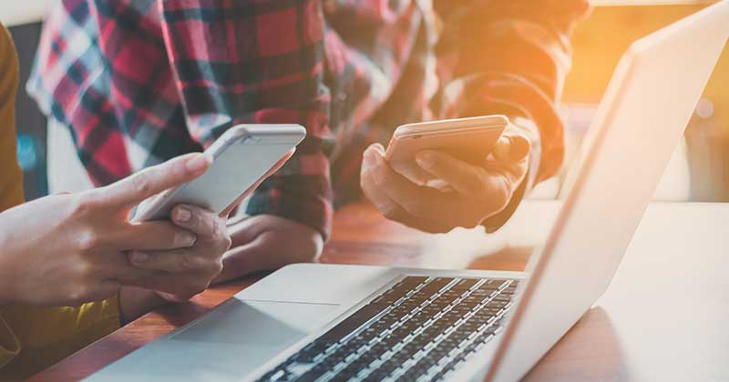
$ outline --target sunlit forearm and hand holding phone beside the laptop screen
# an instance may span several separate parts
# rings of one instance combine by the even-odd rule
[[[504,114],[513,126],[482,163],[418,153],[418,166],[447,184],[441,189],[412,183],[386,164],[383,147],[370,146],[360,179],[375,207],[428,232],[502,226],[531,186],[560,167],[555,104],[570,64],[568,36],[586,10],[584,0],[436,1],[443,21],[436,115]]]

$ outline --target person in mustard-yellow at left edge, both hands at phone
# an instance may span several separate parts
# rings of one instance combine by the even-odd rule
[[[23,203],[15,158],[18,63],[0,25],[0,380],[21,380],[168,301],[210,285],[231,245],[224,216],[179,205],[171,222],[129,209],[200,176],[188,154],[109,186]]]

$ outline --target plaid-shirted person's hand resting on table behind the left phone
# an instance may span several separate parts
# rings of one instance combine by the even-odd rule
[[[232,248],[223,257],[216,283],[262,270],[316,260],[323,237],[309,226],[280,216],[258,215],[229,226]]]

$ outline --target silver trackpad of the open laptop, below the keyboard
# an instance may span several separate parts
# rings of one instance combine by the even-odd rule
[[[102,370],[104,381],[234,381],[322,327],[338,305],[235,297],[202,320]]]

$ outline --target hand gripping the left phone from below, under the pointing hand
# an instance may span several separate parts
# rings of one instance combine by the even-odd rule
[[[283,156],[220,216],[196,206],[175,206],[172,209],[172,223],[195,233],[195,245],[170,251],[136,251],[129,254],[129,261],[134,266],[157,270],[160,274],[127,279],[125,284],[152,289],[171,302],[185,301],[207,289],[212,279],[221,273],[223,253],[231,247],[231,236],[225,226],[231,210],[260,186],[263,180],[278,171],[293,156],[293,152]]]

